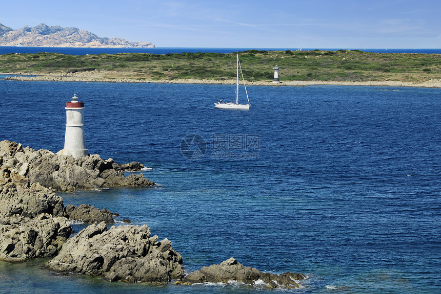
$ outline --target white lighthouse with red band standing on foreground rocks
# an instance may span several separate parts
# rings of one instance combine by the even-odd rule
[[[71,102],[66,102],[66,135],[64,148],[57,154],[72,155],[75,159],[86,156],[86,141],[84,139],[84,102],[78,101],[76,94]]]

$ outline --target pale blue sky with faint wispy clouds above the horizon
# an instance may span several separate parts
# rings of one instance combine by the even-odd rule
[[[441,0],[0,0],[0,23],[156,47],[441,48]]]

